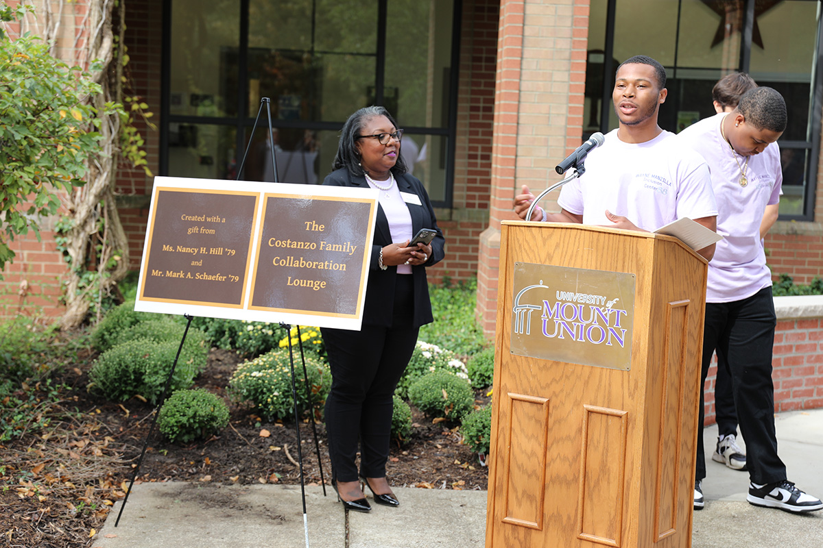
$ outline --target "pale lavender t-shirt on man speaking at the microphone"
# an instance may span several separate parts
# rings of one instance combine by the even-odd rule
[[[645,143],[624,143],[617,130],[588,153],[585,173],[560,190],[557,204],[584,224],[611,225],[606,210],[654,231],[688,217],[718,213],[709,168],[670,131]],[[584,207],[585,205],[585,207]]]

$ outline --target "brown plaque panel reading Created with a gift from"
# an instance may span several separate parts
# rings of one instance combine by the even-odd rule
[[[258,194],[156,189],[140,298],[243,306]]]

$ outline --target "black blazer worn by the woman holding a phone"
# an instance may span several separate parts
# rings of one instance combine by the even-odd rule
[[[443,232],[437,226],[435,210],[431,207],[429,195],[416,177],[408,173],[395,176],[398,188],[401,192],[409,192],[420,197],[421,205],[409,204],[407,207],[412,214],[412,235],[421,228],[433,228],[437,231],[437,236],[431,241],[431,255],[424,265],[412,266],[412,277],[414,283],[414,317],[415,327],[430,323],[431,302],[429,300],[429,285],[425,279],[425,267],[432,266],[444,257],[445,239]],[[356,177],[351,175],[346,168],[337,169],[323,180],[324,185],[329,187],[355,187],[369,188],[369,183],[362,175]],[[388,269],[380,269],[378,260],[380,250],[392,242],[392,234],[389,232],[388,219],[383,208],[378,204],[377,219],[374,223],[374,241],[371,246],[371,263],[369,272],[369,284],[366,286],[365,307],[363,310],[363,323],[366,325],[391,326],[394,306],[394,285],[398,277],[398,267],[389,266]],[[403,274],[401,274],[403,275]]]

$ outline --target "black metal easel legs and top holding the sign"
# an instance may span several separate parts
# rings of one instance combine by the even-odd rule
[[[254,125],[252,127],[252,131],[249,134],[249,145],[246,146],[246,151],[243,154],[243,161],[240,163],[239,168],[237,170],[237,179],[239,181],[239,177],[243,173],[243,168],[246,162],[246,156],[249,154],[249,149],[251,148],[252,144],[252,136],[254,135],[254,130],[257,128],[258,120],[260,119],[260,113],[263,111],[263,105],[266,105],[266,111],[268,116],[268,135],[269,135],[269,142],[271,144],[270,148],[272,150],[272,168],[274,173],[274,182],[277,182],[277,159],[275,158],[274,154],[274,136],[272,131],[272,109],[271,109],[271,101],[268,97],[263,97],[260,99],[260,108],[258,109],[258,115],[254,118]],[[137,479],[137,476],[140,472],[140,467],[143,462],[143,457],[146,454],[146,448],[148,447],[149,440],[151,439],[151,434],[154,431],[154,427],[157,421],[157,416],[160,414],[160,408],[163,407],[163,403],[165,403],[166,394],[168,394],[171,380],[174,377],[174,369],[177,367],[177,361],[180,357],[180,352],[183,350],[183,344],[186,340],[186,335],[188,334],[188,327],[192,324],[193,316],[185,314],[184,317],[188,320],[186,323],[186,329],[183,333],[183,338],[180,340],[180,346],[177,349],[177,355],[174,357],[174,363],[171,366],[171,371],[169,373],[169,378],[165,382],[165,387],[163,389],[163,394],[160,396],[160,403],[157,404],[156,408],[154,409],[154,415],[151,417],[151,426],[149,427],[149,432],[146,435],[146,440],[143,442],[143,449],[140,453],[140,458],[137,459],[137,466],[134,468],[134,473],[132,476],[132,480],[128,484],[128,490],[126,491],[126,497],[123,499],[123,504],[120,506],[120,511],[117,515],[117,520],[114,522],[114,527],[117,527],[120,523],[120,517],[123,515],[123,509],[126,507],[126,503],[128,502],[128,495],[132,492],[132,487],[134,485],[134,481]],[[295,429],[297,432],[297,461],[300,467],[300,494],[302,496],[303,502],[303,526],[305,529],[305,541],[306,541],[306,548],[309,547],[309,521],[308,521],[308,514],[306,513],[306,495],[305,495],[305,476],[303,471],[303,451],[300,447],[300,417],[298,415],[297,410],[297,386],[295,384],[295,360],[294,360],[294,347],[291,344],[291,325],[281,324],[286,328],[286,337],[289,341],[289,364],[291,366],[291,397],[294,401],[294,408],[295,408]],[[312,431],[314,433],[314,449],[317,452],[317,462],[318,467],[320,468],[320,483],[323,485],[323,496],[326,496],[326,481],[323,478],[323,460],[320,456],[320,444],[318,441],[317,436],[317,427],[314,424],[314,401],[312,398],[311,393],[311,386],[309,385],[309,374],[306,371],[306,362],[305,362],[305,355],[303,353],[303,340],[300,337],[300,325],[295,326],[297,328],[297,340],[298,344],[300,345],[300,360],[303,363],[303,375],[305,380],[305,389],[306,389],[306,398],[309,401],[309,409],[311,410],[311,425]]]

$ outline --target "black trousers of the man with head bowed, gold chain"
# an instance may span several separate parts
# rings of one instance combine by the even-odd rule
[[[732,393],[740,431],[746,440],[746,467],[751,481],[764,484],[786,479],[786,466],[777,454],[774,433],[771,361],[775,325],[770,287],[740,301],[706,303],[695,479],[706,477],[702,387],[715,351],[718,361],[725,361],[732,374]]]

